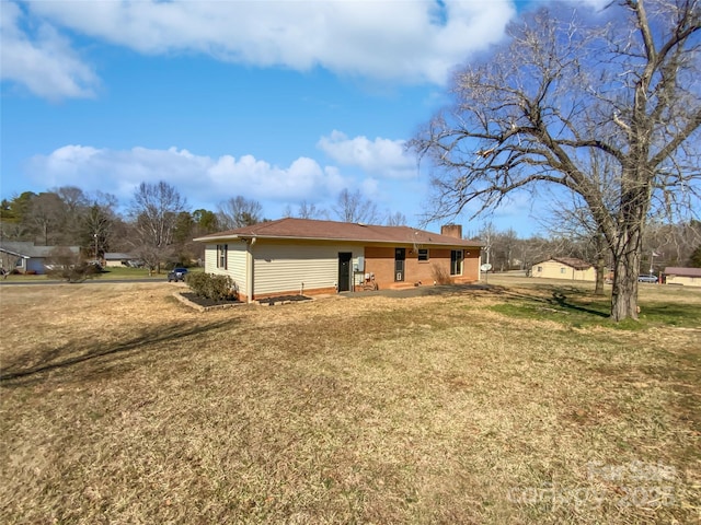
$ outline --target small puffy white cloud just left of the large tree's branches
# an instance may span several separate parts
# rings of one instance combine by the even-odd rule
[[[367,173],[390,178],[412,178],[416,176],[416,161],[407,154],[403,140],[366,137],[349,139],[345,133],[333,130],[322,137],[317,145],[341,165],[357,166]]]

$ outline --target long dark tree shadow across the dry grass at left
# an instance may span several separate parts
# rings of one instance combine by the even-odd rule
[[[159,326],[150,330],[143,330],[137,337],[116,341],[112,345],[103,345],[95,348],[94,341],[85,341],[83,348],[80,343],[70,342],[57,348],[46,348],[39,350],[38,363],[23,368],[25,355],[19,355],[9,363],[3,363],[2,373],[0,373],[0,385],[11,386],[25,383],[21,380],[37,378],[46,372],[70,370],[71,368],[85,362],[99,360],[105,362],[111,358],[127,357],[142,349],[145,346],[162,345],[175,341],[185,337],[198,336],[212,330],[230,327],[231,320],[221,320],[198,326],[183,326],[182,324],[172,324]],[[64,355],[67,355],[62,358]],[[35,358],[36,355],[33,354]],[[8,383],[11,382],[11,383]]]

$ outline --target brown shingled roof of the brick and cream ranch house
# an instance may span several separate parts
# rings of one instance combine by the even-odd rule
[[[480,241],[441,235],[410,226],[379,226],[355,222],[318,221],[311,219],[286,218],[261,222],[252,226],[197,237],[199,242],[226,241],[231,238],[286,238],[314,241],[353,241],[360,243],[393,243],[475,247]]]

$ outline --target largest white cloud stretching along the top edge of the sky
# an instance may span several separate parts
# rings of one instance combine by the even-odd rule
[[[3,2],[8,3],[8,2]],[[16,5],[11,10],[18,11]],[[36,20],[143,54],[202,52],[257,67],[441,84],[455,65],[497,42],[514,2],[28,2]],[[16,21],[10,25],[15,31]],[[25,47],[36,47],[24,38]],[[18,60],[28,54],[20,49]],[[50,56],[50,55],[49,55]],[[65,57],[59,57],[65,58]],[[61,61],[78,84],[85,71]],[[84,66],[83,66],[84,68]],[[66,91],[67,96],[70,95]]]

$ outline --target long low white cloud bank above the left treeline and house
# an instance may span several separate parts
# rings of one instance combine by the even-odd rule
[[[142,182],[165,180],[194,206],[215,209],[237,195],[262,202],[317,201],[335,196],[349,184],[333,166],[322,167],[314,160],[299,158],[279,167],[252,155],[218,159],[170,148],[152,150],[96,149],[66,145],[48,155],[36,155],[27,175],[46,188],[74,185],[85,191],[102,190],[129,201]]]

